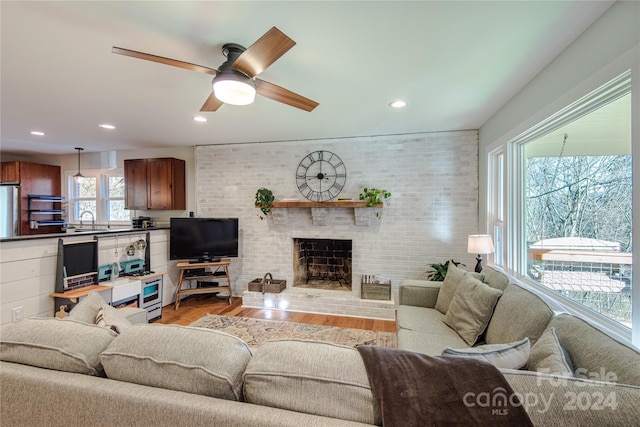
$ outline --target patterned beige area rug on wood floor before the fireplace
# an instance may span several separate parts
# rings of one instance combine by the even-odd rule
[[[258,347],[265,341],[297,338],[329,341],[355,347],[358,344],[397,347],[396,334],[335,326],[309,325],[283,320],[250,319],[247,317],[207,314],[189,326],[216,329],[240,338],[249,347]]]

